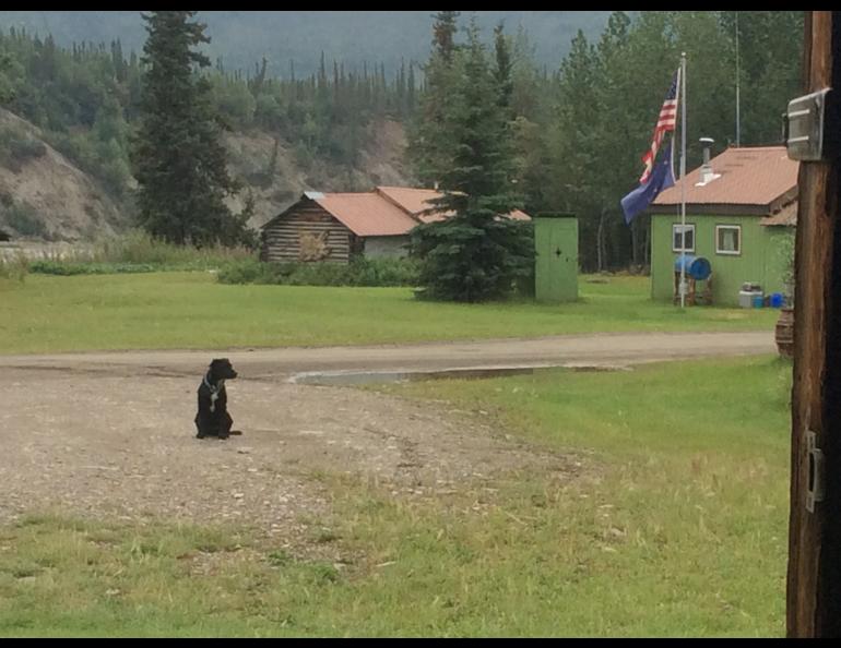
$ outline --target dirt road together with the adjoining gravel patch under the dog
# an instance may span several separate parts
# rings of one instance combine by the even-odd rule
[[[330,513],[320,472],[437,496],[500,473],[567,479],[580,457],[518,443],[482,412],[347,387],[304,371],[633,363],[771,352],[771,334],[599,335],[332,349],[0,357],[0,524],[35,511],[126,519],[241,521],[305,547]],[[245,434],[193,437],[209,360],[232,358],[229,407]]]

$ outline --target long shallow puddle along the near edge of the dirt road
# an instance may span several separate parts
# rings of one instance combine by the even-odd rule
[[[353,386],[377,383],[408,383],[440,380],[482,380],[509,375],[541,375],[553,371],[570,372],[630,371],[628,367],[608,364],[560,364],[557,367],[505,367],[487,369],[447,369],[443,371],[345,371],[307,372],[289,379],[300,385]]]

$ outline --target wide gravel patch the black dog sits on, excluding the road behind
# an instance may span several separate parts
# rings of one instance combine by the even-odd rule
[[[319,473],[436,496],[502,472],[566,479],[577,460],[525,446],[443,405],[344,387],[229,383],[242,436],[197,440],[198,380],[4,370],[0,524],[32,512],[244,523],[306,551],[330,514]]]

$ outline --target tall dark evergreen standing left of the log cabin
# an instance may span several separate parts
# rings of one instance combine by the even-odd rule
[[[237,184],[228,176],[210,84],[199,70],[209,59],[193,48],[209,43],[194,11],[143,15],[142,115],[132,149],[141,225],[176,243],[225,244],[247,238],[245,216],[225,197]]]

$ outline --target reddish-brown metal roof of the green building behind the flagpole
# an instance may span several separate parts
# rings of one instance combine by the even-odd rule
[[[789,202],[797,192],[799,163],[789,159],[785,146],[732,147],[710,160],[719,175],[706,184],[701,168],[686,175],[687,205],[757,205],[769,209],[778,201]],[[679,205],[680,184],[666,189],[654,205]]]

